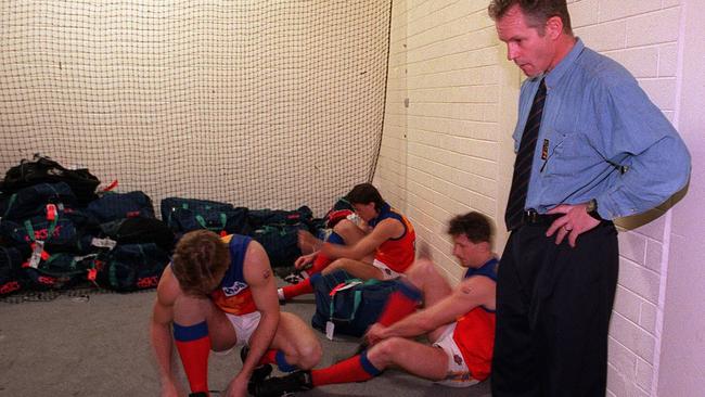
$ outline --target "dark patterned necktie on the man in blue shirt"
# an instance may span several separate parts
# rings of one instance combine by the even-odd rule
[[[539,137],[541,115],[543,114],[543,102],[546,102],[546,82],[541,79],[539,90],[534,97],[534,104],[531,105],[529,117],[526,120],[522,142],[520,142],[518,153],[516,153],[516,159],[514,161],[512,188],[507,203],[507,213],[504,213],[507,230],[514,230],[522,225],[526,193],[528,192],[528,182],[531,176],[531,162],[534,159],[534,152],[536,151],[536,141]]]

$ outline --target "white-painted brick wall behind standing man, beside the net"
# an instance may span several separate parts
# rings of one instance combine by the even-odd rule
[[[470,209],[502,214],[513,155],[518,71],[507,77],[487,0],[393,4],[389,93],[375,183],[414,223],[448,277],[462,272],[445,225]],[[678,0],[568,1],[588,47],[625,65],[674,118],[678,98]],[[514,72],[512,72],[514,73]],[[504,76],[503,76],[504,75]],[[408,101],[408,107],[405,105]],[[508,177],[509,175],[509,177]],[[610,336],[610,396],[652,396],[664,307],[663,209],[619,221],[620,272]],[[656,370],[655,370],[656,369]]]

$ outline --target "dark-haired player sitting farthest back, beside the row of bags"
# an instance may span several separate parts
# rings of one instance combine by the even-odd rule
[[[307,270],[310,277],[279,289],[281,300],[312,293],[312,283],[321,273],[344,269],[362,280],[392,280],[413,262],[416,234],[411,222],[393,209],[371,183],[356,185],[346,200],[364,223],[360,227],[343,219],[335,225],[325,243],[308,232],[300,232],[299,246],[315,253],[306,259],[315,257],[312,267]]]

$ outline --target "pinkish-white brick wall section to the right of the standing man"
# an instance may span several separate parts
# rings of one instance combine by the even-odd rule
[[[621,63],[674,119],[680,4],[662,0],[581,0],[571,3],[576,35]],[[618,225],[619,285],[611,323],[608,396],[655,396],[664,307],[664,244],[668,216],[651,214]],[[646,219],[656,220],[643,225]]]

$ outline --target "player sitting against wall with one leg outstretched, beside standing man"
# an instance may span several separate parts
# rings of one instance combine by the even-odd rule
[[[490,245],[491,228],[485,216],[470,213],[451,219],[448,232],[453,255],[467,268],[458,286],[451,289],[422,253],[368,331],[368,349],[324,369],[260,380],[251,393],[279,397],[328,384],[363,382],[393,366],[453,387],[486,380],[495,338],[498,264]],[[415,311],[422,297],[425,308]],[[432,346],[413,340],[423,334]]]

